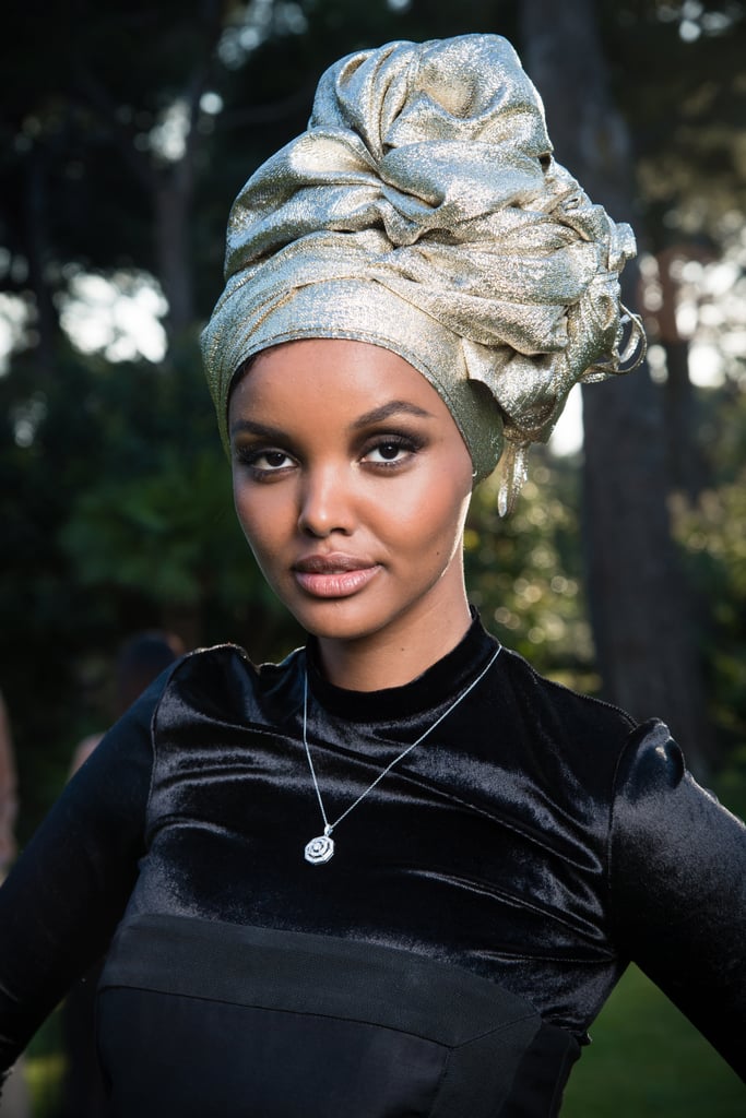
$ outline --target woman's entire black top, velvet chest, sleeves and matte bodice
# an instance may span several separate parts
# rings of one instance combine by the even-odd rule
[[[746,828],[665,727],[475,620],[403,688],[342,691],[313,643],[186,656],[110,731],[0,890],[0,1068],[106,950],[124,1116],[554,1115],[627,961],[746,1078]],[[133,1069],[136,1074],[133,1074]]]

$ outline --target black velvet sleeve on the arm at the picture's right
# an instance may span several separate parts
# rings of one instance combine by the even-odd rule
[[[746,827],[687,771],[662,722],[617,770],[611,903],[623,951],[746,1079]]]

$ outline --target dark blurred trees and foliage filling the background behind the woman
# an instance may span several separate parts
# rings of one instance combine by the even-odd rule
[[[654,376],[585,389],[585,453],[537,453],[507,522],[482,487],[473,599],[540,670],[665,718],[695,769],[743,803],[745,17],[736,0],[7,9],[0,688],[22,839],[75,743],[110,720],[112,664],[132,633],[237,641],[257,660],[302,639],[235,524],[199,366],[228,208],[305,126],[331,61],[474,30],[512,39],[557,158],[634,226],[642,265],[625,299],[645,314]],[[98,347],[81,348],[70,321],[95,297],[92,278],[110,302],[157,282],[163,356],[138,357],[144,328],[110,325],[108,310],[94,309]],[[717,387],[692,382],[702,345]]]

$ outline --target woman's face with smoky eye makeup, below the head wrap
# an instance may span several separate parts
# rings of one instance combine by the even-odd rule
[[[366,342],[286,342],[239,380],[228,426],[242,528],[304,628],[405,636],[457,614],[460,638],[472,465],[421,373]]]

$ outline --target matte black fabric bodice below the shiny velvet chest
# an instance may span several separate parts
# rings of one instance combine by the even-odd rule
[[[100,1032],[124,1118],[544,1118],[577,1052],[568,1034],[541,1044],[527,1088],[541,1020],[491,982],[338,937],[173,917],[122,925]]]

